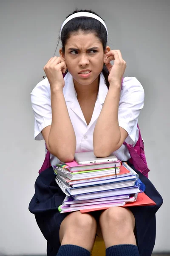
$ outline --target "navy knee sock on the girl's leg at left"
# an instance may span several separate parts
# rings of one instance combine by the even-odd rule
[[[83,247],[73,245],[73,244],[64,244],[59,247],[57,256],[90,256],[90,252]]]

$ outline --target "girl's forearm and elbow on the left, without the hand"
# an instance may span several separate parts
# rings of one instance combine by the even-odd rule
[[[74,159],[76,136],[62,88],[51,92],[52,123],[42,130],[48,151],[62,162]]]

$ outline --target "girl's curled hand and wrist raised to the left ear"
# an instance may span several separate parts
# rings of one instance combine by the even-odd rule
[[[63,88],[65,85],[62,73],[65,73],[67,66],[60,57],[52,57],[49,59],[43,70],[48,78],[51,89]]]

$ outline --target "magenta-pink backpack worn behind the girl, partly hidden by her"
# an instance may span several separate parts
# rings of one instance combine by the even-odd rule
[[[137,127],[139,129],[139,125]],[[144,154],[144,141],[142,139],[140,129],[139,129],[139,139],[134,147],[133,145],[127,144],[125,142],[123,144],[127,146],[127,149],[130,153],[131,158],[129,159],[129,162],[133,164],[136,170],[138,170],[139,172],[142,172],[142,174],[145,177],[148,177],[148,172],[150,172],[150,170],[147,167],[147,161]],[[39,173],[41,173],[45,169],[48,169],[50,166],[51,166],[50,152],[47,150],[44,163],[42,164],[42,167],[39,170]]]

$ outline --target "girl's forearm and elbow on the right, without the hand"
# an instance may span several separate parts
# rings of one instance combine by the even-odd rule
[[[118,108],[120,84],[110,84],[102,111],[94,129],[94,154],[97,157],[108,156],[123,144],[127,131],[119,127]]]

